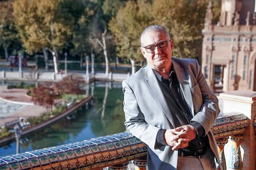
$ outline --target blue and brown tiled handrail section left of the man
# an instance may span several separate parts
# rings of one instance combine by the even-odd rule
[[[129,132],[0,157],[0,169],[92,169],[145,156],[147,147]]]

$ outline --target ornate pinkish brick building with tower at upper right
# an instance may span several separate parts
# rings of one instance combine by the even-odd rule
[[[256,91],[256,0],[222,0],[220,21],[205,17],[202,69],[211,89]]]

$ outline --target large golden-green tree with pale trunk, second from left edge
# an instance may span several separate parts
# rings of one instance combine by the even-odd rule
[[[54,73],[59,72],[58,51],[70,38],[74,18],[67,12],[70,0],[14,1],[14,21],[23,47],[30,54],[48,49],[53,55]]]

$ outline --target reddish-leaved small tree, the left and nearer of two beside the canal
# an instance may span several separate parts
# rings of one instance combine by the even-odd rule
[[[54,100],[59,97],[59,93],[53,86],[39,85],[32,92],[32,101],[36,105],[46,107],[47,110],[53,111]]]

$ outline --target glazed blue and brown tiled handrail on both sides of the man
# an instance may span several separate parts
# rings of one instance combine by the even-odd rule
[[[219,116],[213,126],[220,155],[228,137],[242,139],[245,127],[249,126],[245,115]],[[236,140],[234,140],[236,142]],[[237,149],[238,148],[238,149]],[[236,151],[239,145],[236,145]],[[147,147],[129,132],[97,137],[72,144],[59,145],[31,152],[0,157],[0,169],[101,169],[117,164],[126,164],[137,160],[139,166],[145,166]],[[233,162],[238,160],[238,162]],[[231,159],[229,164],[241,166],[239,159]],[[223,165],[226,162],[223,159]],[[116,166],[121,169],[120,166]],[[124,168],[125,169],[125,168]]]

